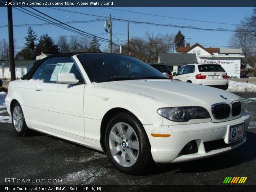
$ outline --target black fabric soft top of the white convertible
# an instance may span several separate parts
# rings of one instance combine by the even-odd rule
[[[74,55],[78,54],[86,54],[86,53],[94,53],[94,54],[116,54],[116,53],[95,53],[95,52],[71,52],[71,53],[57,53],[57,54],[52,54],[44,59],[36,60],[32,66],[32,68],[28,71],[26,75],[24,75],[21,79],[23,80],[29,80],[32,78],[33,74],[35,73],[36,69],[43,63],[45,60],[52,58],[52,57],[72,57]]]

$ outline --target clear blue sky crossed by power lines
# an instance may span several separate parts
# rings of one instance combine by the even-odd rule
[[[63,22],[68,21],[85,21],[85,20],[94,20],[98,19],[95,16],[82,15],[71,12],[64,12],[59,10],[52,10],[50,8],[36,8],[58,20]],[[71,10],[76,12],[84,12],[94,15],[100,16],[109,16],[112,14],[112,18],[114,19],[126,19],[126,20],[135,20],[135,21],[143,21],[143,22],[154,22],[159,24],[173,24],[179,26],[194,26],[198,28],[226,28],[226,29],[234,29],[235,25],[239,24],[240,20],[242,20],[245,16],[250,16],[252,14],[253,7],[234,7],[234,8],[219,8],[219,7],[206,7],[206,8],[174,8],[174,7],[122,7],[122,8],[114,8],[121,9],[126,11],[133,12],[141,12],[141,13],[150,13],[168,17],[176,17],[181,19],[189,19],[189,20],[180,20],[180,19],[171,19],[171,18],[163,18],[157,16],[150,16],[132,12],[124,12],[120,10],[113,10],[109,8],[102,7],[67,7],[62,8],[65,10]],[[0,26],[7,24],[7,8],[0,8]],[[190,21],[190,20],[203,20],[210,22],[198,22],[198,21]],[[219,22],[219,23],[227,23],[227,24],[215,24],[211,22]],[[41,24],[45,23],[42,20],[36,19],[30,15],[27,15],[23,12],[20,12],[17,9],[13,9],[13,25],[19,24]],[[113,23],[113,41],[116,44],[120,44],[120,40],[127,39],[127,23],[112,20]],[[229,25],[231,24],[231,25]],[[80,30],[85,32],[101,36],[104,38],[109,38],[109,34],[104,31],[104,21],[95,21],[89,23],[75,23],[70,24]],[[72,32],[66,31],[64,29],[58,28],[56,26],[35,26],[32,29],[36,32],[37,36],[44,33],[48,33],[49,36],[53,38],[53,40],[57,40],[58,36],[71,36],[77,35]],[[233,32],[223,32],[223,31],[204,31],[204,30],[196,30],[196,29],[186,29],[186,28],[174,28],[174,27],[160,27],[146,24],[130,24],[130,37],[132,36],[145,36],[146,32],[150,34],[157,35],[159,33],[165,34],[176,34],[178,30],[185,35],[186,41],[194,44],[196,42],[202,44],[203,46],[209,47],[220,47],[225,48],[228,47],[229,39]],[[25,43],[24,37],[27,36],[28,27],[14,27],[14,38],[16,39],[16,47],[19,51]],[[0,28],[0,38],[8,39],[8,28]],[[108,44],[101,42],[101,49],[104,49]]]

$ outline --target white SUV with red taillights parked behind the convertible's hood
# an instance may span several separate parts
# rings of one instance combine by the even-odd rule
[[[220,89],[228,89],[226,71],[218,64],[188,64],[184,65],[173,79],[180,81],[208,85]]]

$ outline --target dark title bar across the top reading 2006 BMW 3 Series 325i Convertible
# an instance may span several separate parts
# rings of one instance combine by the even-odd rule
[[[0,7],[6,7],[8,4],[21,7],[254,7],[255,2],[255,0],[12,0],[12,2],[0,0]]]

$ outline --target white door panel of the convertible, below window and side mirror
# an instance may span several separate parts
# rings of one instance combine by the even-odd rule
[[[38,85],[36,110],[40,125],[76,136],[84,136],[84,84]]]

